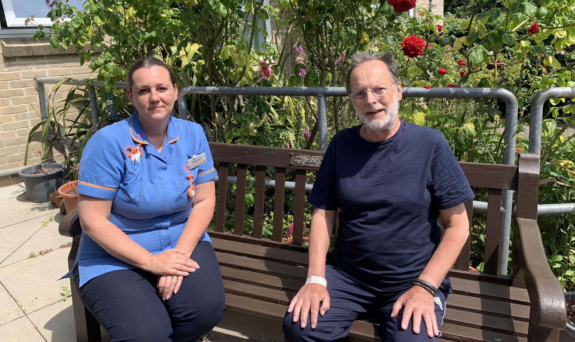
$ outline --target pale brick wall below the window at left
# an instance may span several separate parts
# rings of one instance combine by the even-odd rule
[[[30,128],[40,121],[37,77],[86,78],[90,68],[80,66],[74,48],[56,50],[47,40],[0,38],[0,170],[24,165]],[[46,85],[46,94],[52,86]],[[55,99],[66,95],[65,87]],[[30,142],[28,164],[40,161],[40,135]],[[55,151],[55,159],[62,156]],[[0,186],[21,181],[20,177],[0,177]]]

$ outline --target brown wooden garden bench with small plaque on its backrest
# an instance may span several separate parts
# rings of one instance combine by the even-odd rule
[[[287,305],[307,275],[308,249],[302,246],[305,174],[317,170],[323,152],[222,143],[210,143],[210,149],[219,178],[216,229],[209,234],[220,262],[227,306],[218,326],[282,340],[281,326]],[[471,187],[488,189],[485,267],[484,272],[469,271],[471,240],[467,240],[457,266],[448,273],[454,293],[447,301],[440,341],[559,341],[559,330],[566,325],[565,301],[562,288],[547,264],[536,221],[538,155],[521,153],[519,166],[466,162],[460,165]],[[269,168],[275,168],[275,212],[283,213],[286,177],[293,174],[292,243],[282,241],[283,215],[274,216],[271,240],[262,238]],[[286,172],[289,169],[294,170],[292,174]],[[236,208],[244,207],[243,184],[248,174],[255,176],[251,236],[244,235],[243,216],[235,218],[233,233],[224,231],[229,170],[237,177]],[[513,276],[496,275],[502,189],[514,190],[517,195]],[[465,203],[470,221],[472,204],[472,201]],[[77,210],[60,222],[60,234],[74,237],[68,257],[70,268],[74,265],[81,231]],[[98,322],[79,301],[73,280],[71,288],[78,341],[99,342]],[[355,321],[346,340],[378,341],[378,326],[369,318]]]

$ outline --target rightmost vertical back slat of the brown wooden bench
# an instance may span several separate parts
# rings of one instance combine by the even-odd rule
[[[497,274],[497,252],[499,250],[499,219],[501,217],[501,189],[489,188],[487,197],[487,222],[485,228],[485,262],[483,272]]]

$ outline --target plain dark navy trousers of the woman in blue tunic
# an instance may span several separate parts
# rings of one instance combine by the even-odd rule
[[[225,295],[212,244],[200,241],[191,259],[200,268],[184,277],[178,293],[165,302],[156,288],[158,276],[139,268],[97,276],[79,294],[111,342],[196,341],[224,316]]]

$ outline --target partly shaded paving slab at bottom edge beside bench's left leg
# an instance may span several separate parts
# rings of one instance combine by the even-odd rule
[[[76,342],[72,298],[34,311],[28,318],[48,342]]]

